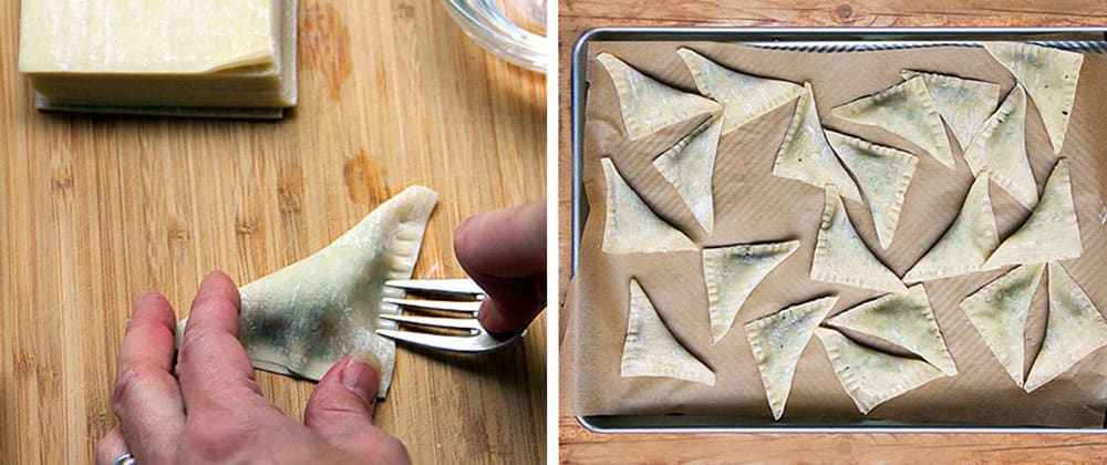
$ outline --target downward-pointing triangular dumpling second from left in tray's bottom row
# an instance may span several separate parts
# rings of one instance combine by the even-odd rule
[[[804,353],[819,322],[837,302],[837,297],[824,297],[745,324],[746,339],[749,340],[749,349],[757,361],[765,396],[773,409],[773,420],[780,420],[784,415],[799,355]]]

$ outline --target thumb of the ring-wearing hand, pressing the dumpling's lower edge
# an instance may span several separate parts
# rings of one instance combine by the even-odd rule
[[[381,362],[346,358],[319,380],[303,411],[303,423],[335,447],[381,463],[405,463],[407,451],[373,426]]]

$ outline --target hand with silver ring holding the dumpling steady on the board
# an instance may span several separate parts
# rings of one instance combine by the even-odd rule
[[[196,291],[174,368],[176,317],[156,292],[141,296],[115,374],[121,425],[101,440],[96,463],[410,463],[395,437],[373,426],[379,368],[356,358],[319,381],[303,424],[261,395],[238,341],[238,288],[208,275]],[[375,362],[380,365],[380,362]]]

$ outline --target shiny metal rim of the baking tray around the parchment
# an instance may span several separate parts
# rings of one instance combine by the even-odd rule
[[[879,40],[891,46],[910,45],[906,42],[934,42],[934,39],[948,39],[951,42],[966,41],[970,38],[1004,37],[1008,40],[1031,40],[1033,35],[1042,34],[1103,34],[1104,45],[1097,52],[1107,52],[1107,28],[597,28],[584,31],[572,48],[572,69],[570,72],[571,90],[571,127],[572,127],[572,214],[571,214],[571,273],[577,272],[577,259],[580,246],[580,235],[583,231],[583,174],[581,163],[583,157],[583,124],[584,99],[587,96],[587,80],[584,66],[588,43],[598,40],[638,40],[638,41],[674,41],[674,40],[715,40],[734,43],[754,42],[757,45],[772,46],[814,46],[834,40],[841,43],[863,43]],[[870,42],[871,43],[871,42]],[[842,426],[770,423],[762,418],[687,416],[687,415],[597,415],[577,416],[577,422],[593,433],[1047,433],[1047,434],[1105,434],[1104,428],[1062,428],[1035,426],[973,426],[973,425],[918,425],[880,420],[862,420],[844,423]]]

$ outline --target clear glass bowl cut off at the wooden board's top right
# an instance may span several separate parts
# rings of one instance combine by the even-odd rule
[[[473,40],[519,66],[546,73],[546,0],[442,0]]]

